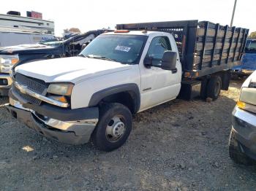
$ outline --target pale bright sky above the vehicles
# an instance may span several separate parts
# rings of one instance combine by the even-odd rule
[[[1,4],[0,13],[10,10],[42,12],[45,20],[55,22],[55,34],[65,28],[80,31],[114,28],[121,23],[141,23],[170,20],[208,20],[230,25],[235,0],[8,0]],[[233,26],[256,31],[255,0],[238,0]]]

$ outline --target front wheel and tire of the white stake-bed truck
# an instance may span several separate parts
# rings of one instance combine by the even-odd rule
[[[99,122],[92,134],[97,149],[105,152],[121,147],[132,130],[132,114],[122,104],[103,104],[99,108]]]

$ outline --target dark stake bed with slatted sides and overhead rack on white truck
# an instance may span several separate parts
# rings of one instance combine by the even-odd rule
[[[246,28],[231,28],[198,20],[118,24],[116,28],[173,34],[184,76],[190,78],[231,69],[238,64],[249,33]]]

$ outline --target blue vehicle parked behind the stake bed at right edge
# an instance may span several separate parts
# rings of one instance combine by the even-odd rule
[[[256,70],[256,39],[246,41],[244,55],[241,59],[241,65],[233,67],[233,75],[245,77]]]

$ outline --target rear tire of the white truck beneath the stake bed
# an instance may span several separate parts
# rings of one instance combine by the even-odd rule
[[[212,76],[207,85],[207,97],[217,100],[222,89],[222,79],[219,76]]]

